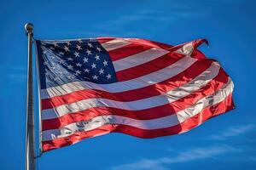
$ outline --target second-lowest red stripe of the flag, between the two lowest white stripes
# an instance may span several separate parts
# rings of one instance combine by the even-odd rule
[[[175,114],[177,111],[182,111],[183,109],[189,107],[189,105],[195,104],[198,100],[204,98],[205,96],[212,95],[220,88],[223,88],[224,84],[228,82],[228,79],[229,78],[225,76],[224,71],[220,71],[217,77],[212,79],[212,81],[208,82],[206,86],[195,91],[194,93],[189,94],[182,99],[178,99],[170,104],[160,105],[158,107],[149,108],[146,110],[127,111],[110,107],[97,107],[67,114],[51,120],[44,120],[42,122],[43,131],[61,128],[73,122],[88,121],[96,116],[102,115],[126,116],[138,120],[149,120],[163,116],[170,116]]]

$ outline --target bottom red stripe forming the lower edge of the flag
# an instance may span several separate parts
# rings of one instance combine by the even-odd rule
[[[60,148],[70,144],[75,144],[82,139],[88,139],[106,133],[125,133],[143,139],[156,138],[160,136],[172,135],[177,133],[184,133],[194,127],[201,125],[201,123],[207,121],[207,119],[213,116],[223,114],[224,112],[230,111],[234,108],[235,107],[232,101],[232,94],[230,94],[230,96],[224,99],[224,101],[218,103],[217,105],[212,105],[205,108],[203,111],[201,111],[201,113],[193,117],[190,117],[185,122],[182,122],[173,127],[166,127],[154,130],[143,130],[137,127],[131,127],[127,125],[105,125],[91,131],[74,133],[65,138],[44,141],[43,151],[54,150],[56,148]]]

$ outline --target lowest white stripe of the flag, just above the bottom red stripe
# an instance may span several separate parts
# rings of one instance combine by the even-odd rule
[[[224,88],[218,90],[215,94],[207,96],[199,100],[195,105],[177,112],[175,115],[160,117],[151,120],[136,120],[125,116],[97,116],[87,122],[74,122],[61,129],[51,129],[43,132],[43,141],[56,138],[63,138],[72,135],[76,132],[89,131],[97,127],[102,127],[107,124],[121,124],[131,127],[137,127],[145,130],[159,129],[165,127],[173,127],[182,123],[192,116],[199,114],[204,108],[210,105],[216,105],[224,101],[233,91],[234,85],[230,80]],[[157,114],[157,113],[156,113]]]

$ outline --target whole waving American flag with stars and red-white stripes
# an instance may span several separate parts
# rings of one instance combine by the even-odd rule
[[[203,42],[37,40],[42,150],[106,133],[184,133],[234,109],[233,82]]]

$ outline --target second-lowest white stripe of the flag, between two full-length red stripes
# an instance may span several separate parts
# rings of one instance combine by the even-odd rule
[[[201,75],[199,75],[198,77],[195,77],[194,80],[184,84],[181,87],[172,89],[166,94],[129,102],[102,98],[84,99],[72,104],[60,105],[53,109],[43,110],[42,118],[43,120],[53,119],[69,113],[84,111],[92,107],[113,107],[128,111],[139,111],[160,105],[166,105],[168,103],[176,101],[177,99],[181,99],[184,96],[191,94],[195,90],[198,90],[201,87],[205,86],[208,82],[212,81],[212,79],[218,75],[219,68],[220,66],[218,65],[218,63],[212,63],[212,65],[206,71],[202,72]]]

